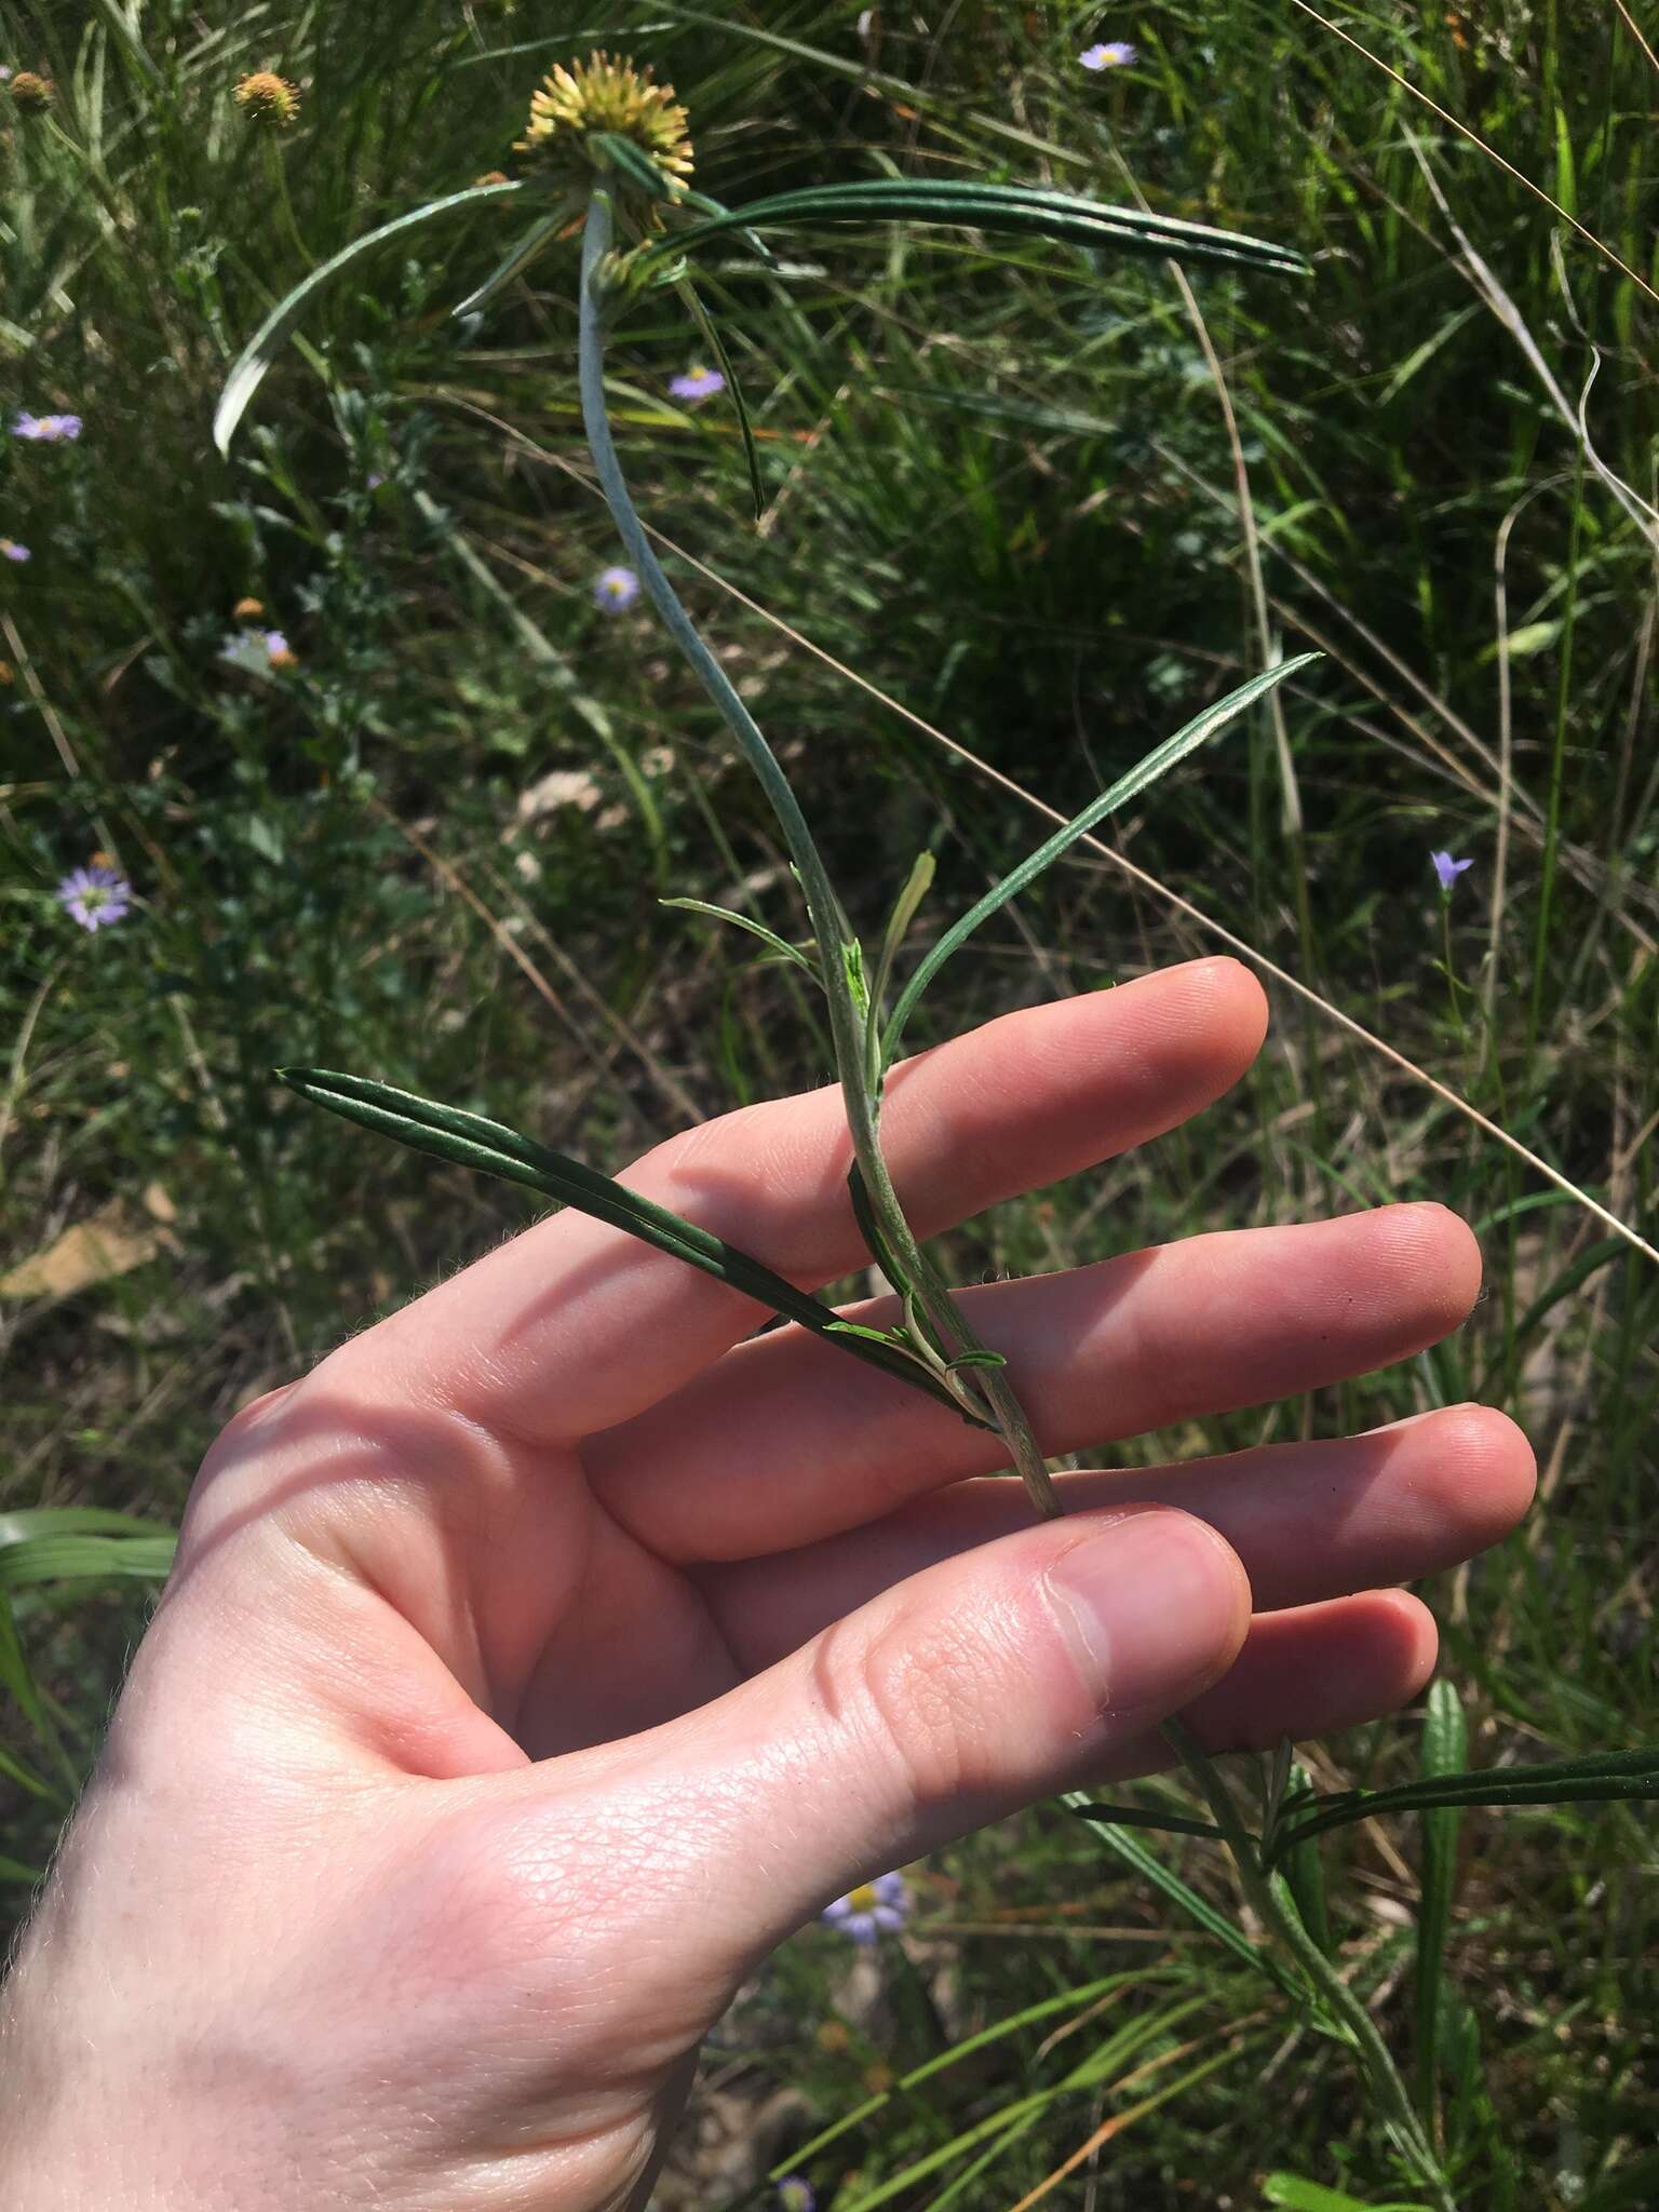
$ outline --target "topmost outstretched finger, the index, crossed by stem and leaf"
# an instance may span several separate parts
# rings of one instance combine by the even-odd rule
[[[987,1022],[894,1071],[883,1150],[918,1234],[1157,1137],[1250,1066],[1267,1022],[1237,960],[1194,960]],[[865,1265],[838,1088],[670,1137],[619,1181],[816,1287]],[[442,1405],[568,1444],[679,1389],[765,1307],[562,1212],[354,1338],[325,1369],[380,1402]],[[323,1369],[319,1369],[321,1374]]]

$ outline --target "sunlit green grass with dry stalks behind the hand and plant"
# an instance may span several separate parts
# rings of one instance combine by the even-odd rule
[[[728,204],[852,175],[1051,181],[1307,257],[1301,283],[1197,270],[1183,296],[1152,263],[967,232],[774,239],[772,276],[710,254],[763,520],[730,407],[668,396],[699,354],[668,294],[613,347],[624,460],[867,933],[918,849],[938,927],[1037,843],[1040,805],[1084,805],[1263,639],[1327,653],[1281,728],[1263,714],[1113,825],[1141,876],[1102,852],[1055,869],[914,1035],[1203,951],[1214,922],[1444,1088],[1276,984],[1232,1099],[973,1223],[949,1261],[973,1279],[1458,1206],[1486,1294],[1451,1345],[1119,1455],[1504,1405],[1540,1509],[1427,1593],[1471,1761],[1659,1734],[1659,1270],[1458,1106],[1652,1241],[1659,66],[1639,18],[0,0],[0,60],[58,82],[49,117],[0,97],[0,400],[86,425],[0,442],[0,535],[33,553],[0,573],[0,1274],[93,1219],[148,1250],[73,1290],[0,1290],[13,1909],[157,1568],[115,1526],[53,1553],[15,1515],[166,1526],[237,1405],[531,1217],[270,1068],[374,1073],[595,1166],[827,1073],[783,971],[659,907],[796,929],[712,710],[644,608],[591,597],[615,542],[575,407],[575,250],[458,325],[518,217],[416,232],[312,307],[234,462],[208,436],[268,307],[507,166],[538,73],[597,40],[675,82],[697,181]],[[1137,66],[1082,71],[1095,38],[1135,40]],[[230,100],[259,66],[303,88],[281,142]],[[294,646],[272,681],[219,659],[243,597]],[[1475,863],[1444,911],[1431,847]],[[142,905],[88,938],[51,889],[100,849]],[[1396,1781],[1416,1725],[1310,1763],[1323,1785]],[[1152,1843],[1237,1918],[1212,1845]],[[1407,2062],[1418,1865],[1413,1823],[1327,1851],[1343,1960]],[[1469,2205],[1659,2194],[1655,1871],[1641,1807],[1467,1818],[1442,2095]],[[916,1887],[922,1964],[885,2006],[849,2024],[845,1958],[807,1931],[721,2068],[799,2086],[827,2126],[869,2068],[1126,1980],[887,2097],[812,2163],[838,2212],[1013,2205],[1113,2115],[1048,2203],[1316,2203],[1274,2174],[1400,2194],[1347,2053],[1075,1823],[1035,1812]]]

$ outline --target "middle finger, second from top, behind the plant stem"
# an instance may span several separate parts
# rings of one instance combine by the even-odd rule
[[[962,1296],[1044,1453],[1367,1374],[1447,1336],[1480,1252],[1440,1206],[1228,1230]],[[885,1325],[894,1301],[849,1310]],[[856,1528],[1006,1464],[998,1436],[799,1327],[728,1352],[584,1451],[606,1509],[681,1564]]]

